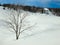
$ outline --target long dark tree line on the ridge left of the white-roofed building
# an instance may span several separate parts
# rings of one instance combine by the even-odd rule
[[[15,4],[3,4],[3,7],[8,7],[10,9],[17,10],[18,9],[23,9],[25,11],[30,11],[30,12],[41,12],[43,13],[44,8],[40,7],[35,7],[35,6],[24,6],[24,5],[15,5]]]

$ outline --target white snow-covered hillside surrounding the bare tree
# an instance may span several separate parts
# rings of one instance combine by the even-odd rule
[[[28,12],[25,20],[35,26],[15,40],[15,33],[4,27],[1,21],[8,20],[8,12],[8,9],[3,10],[0,6],[0,45],[60,45],[60,17]]]

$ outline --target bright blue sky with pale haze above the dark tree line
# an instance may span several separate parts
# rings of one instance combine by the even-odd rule
[[[1,4],[13,3],[37,7],[60,8],[60,0],[0,0]]]

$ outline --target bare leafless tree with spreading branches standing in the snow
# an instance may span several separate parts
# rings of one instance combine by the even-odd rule
[[[3,20],[7,26],[13,31],[15,32],[16,35],[16,40],[19,39],[19,36],[21,35],[21,33],[23,33],[24,31],[30,29],[31,27],[33,27],[34,25],[28,25],[25,22],[25,18],[28,16],[28,13],[21,13],[20,10],[10,10],[9,16],[8,16],[8,20]],[[27,24],[27,25],[26,25]]]

